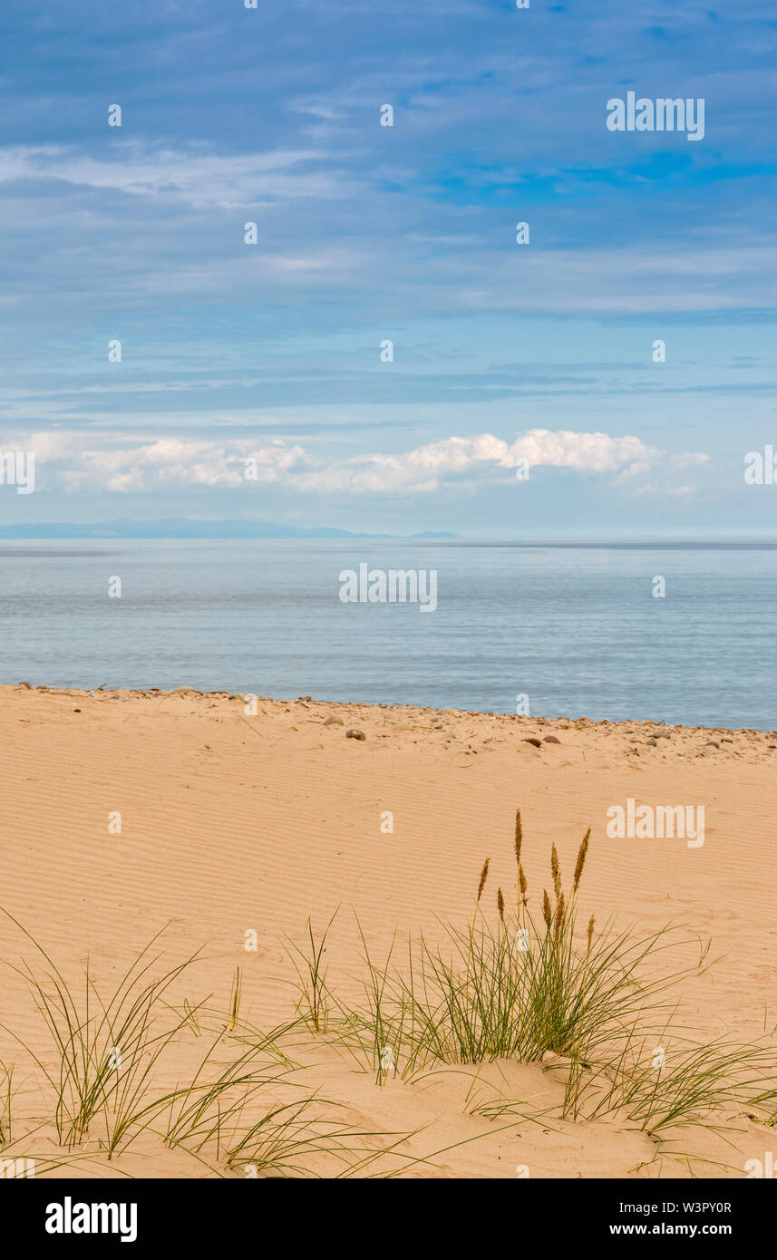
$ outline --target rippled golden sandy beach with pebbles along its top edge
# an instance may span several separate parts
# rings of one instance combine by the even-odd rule
[[[16,920],[0,916],[1,955],[50,971],[21,925],[77,993],[87,960],[107,992],[165,929],[162,970],[203,951],[170,989],[171,1007],[208,998],[225,1011],[239,968],[239,1026],[291,1021],[293,944],[305,948],[309,917],[320,932],[337,911],[327,983],[348,992],[363,970],[359,925],[383,958],[394,934],[402,954],[409,932],[467,924],[485,858],[485,912],[496,914],[497,887],[514,896],[519,808],[538,900],[552,845],[568,881],[591,828],[586,920],[644,932],[679,924],[684,964],[693,937],[712,939],[714,965],[681,985],[700,1038],[749,1042],[773,1026],[774,733],[26,685],[0,688],[0,903]],[[626,818],[630,800],[632,816],[683,805],[698,820],[703,806],[703,843],[698,828],[695,839],[613,838],[608,810]],[[43,1071],[55,1079],[55,1056],[28,989],[6,966],[0,1060],[14,1068],[13,1155],[40,1163],[60,1149]],[[205,1028],[190,1032],[160,1057],[160,1089],[201,1057]],[[773,1144],[747,1108],[720,1131],[722,1116],[659,1135],[622,1114],[563,1119],[564,1065],[552,1055],[441,1063],[418,1079],[388,1072],[379,1085],[334,1038],[305,1028],[290,1038],[293,1080],[350,1125],[412,1134],[385,1164],[404,1160],[407,1176],[743,1177]],[[489,1109],[495,1099],[514,1110]],[[94,1121],[73,1152],[58,1176],[246,1176],[213,1150],[203,1166],[165,1144],[159,1125],[108,1160]]]

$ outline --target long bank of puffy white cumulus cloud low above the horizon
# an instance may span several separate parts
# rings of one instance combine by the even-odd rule
[[[84,446],[83,432],[57,430],[10,438],[6,435],[5,446],[35,452],[40,489],[115,494],[193,486],[238,489],[259,483],[317,494],[417,495],[462,480],[504,480],[524,462],[529,469],[610,475],[638,489],[641,479],[644,485],[645,475],[657,464],[671,462],[637,437],[547,428],[529,430],[514,442],[479,433],[399,454],[339,460],[314,455],[282,438],[257,446],[256,438],[248,437],[223,442],[186,437],[142,441],[108,433]],[[706,459],[699,452],[684,456],[686,465]]]

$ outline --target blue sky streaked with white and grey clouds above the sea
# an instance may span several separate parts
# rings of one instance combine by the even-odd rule
[[[772,0],[5,0],[0,37],[1,523],[773,532]],[[608,131],[628,91],[704,139]]]

